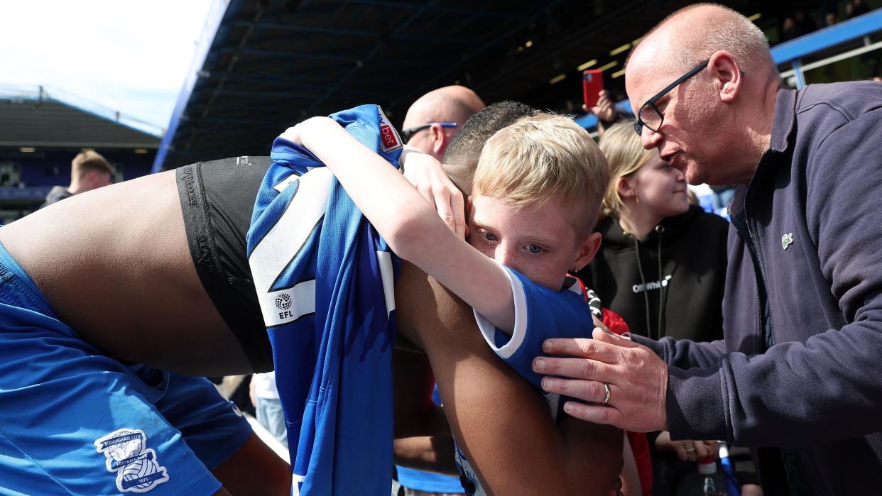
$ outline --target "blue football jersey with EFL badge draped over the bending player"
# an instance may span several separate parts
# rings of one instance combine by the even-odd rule
[[[376,105],[330,116],[397,167]],[[300,493],[388,494],[398,260],[331,171],[279,137],[248,232]]]

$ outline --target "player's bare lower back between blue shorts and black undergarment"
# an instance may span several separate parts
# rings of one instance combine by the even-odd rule
[[[0,228],[0,242],[61,320],[110,356],[250,372],[194,268],[174,171],[72,196]]]

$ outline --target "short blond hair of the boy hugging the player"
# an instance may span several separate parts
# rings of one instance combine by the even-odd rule
[[[505,200],[514,208],[584,205],[574,218],[579,236],[597,221],[609,182],[606,158],[594,139],[564,115],[524,117],[487,140],[475,170],[474,194]]]

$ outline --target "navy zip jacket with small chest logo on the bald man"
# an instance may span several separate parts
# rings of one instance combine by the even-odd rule
[[[813,492],[880,491],[880,147],[882,84],[779,90],[730,207],[724,341],[634,337],[671,366],[672,436],[793,448]]]

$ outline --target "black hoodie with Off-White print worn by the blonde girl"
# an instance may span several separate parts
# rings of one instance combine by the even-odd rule
[[[644,241],[625,233],[615,217],[604,218],[596,231],[603,235],[601,249],[576,275],[633,333],[722,338],[725,219],[690,205],[684,214],[662,220]]]

